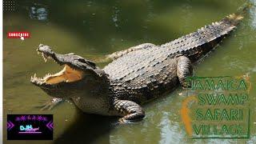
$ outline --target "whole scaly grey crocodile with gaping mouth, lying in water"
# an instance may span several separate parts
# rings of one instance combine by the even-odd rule
[[[143,103],[178,86],[190,86],[186,78],[193,75],[192,65],[218,46],[242,18],[242,13],[230,14],[159,46],[144,43],[109,54],[106,58],[112,62],[102,69],[82,56],[58,54],[40,44],[38,54],[64,68],[43,78],[34,74],[30,82],[54,97],[46,105],[49,108],[72,99],[85,113],[118,116],[118,122],[138,121],[145,117]]]

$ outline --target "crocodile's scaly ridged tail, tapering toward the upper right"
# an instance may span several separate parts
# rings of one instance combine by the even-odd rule
[[[186,34],[182,38],[163,44],[162,47],[166,47],[170,52],[176,51],[178,54],[187,56],[191,62],[198,62],[238,26],[250,6],[249,3],[246,3],[238,9],[237,13],[230,14],[219,22],[204,26],[194,33]]]

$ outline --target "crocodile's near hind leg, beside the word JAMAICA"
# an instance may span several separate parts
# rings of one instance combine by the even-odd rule
[[[190,59],[185,56],[179,56],[177,58],[177,76],[183,88],[190,86],[190,84],[186,82],[186,78],[192,76],[192,74],[193,69]]]

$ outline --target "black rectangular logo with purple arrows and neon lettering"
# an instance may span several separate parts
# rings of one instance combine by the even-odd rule
[[[8,140],[52,140],[53,114],[7,114]]]

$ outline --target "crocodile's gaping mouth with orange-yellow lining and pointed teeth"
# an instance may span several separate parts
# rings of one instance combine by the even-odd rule
[[[35,85],[54,85],[62,82],[76,82],[81,80],[84,76],[84,71],[82,70],[75,70],[74,68],[70,67],[68,64],[63,62],[58,62],[51,56],[50,54],[45,54],[41,51],[38,51],[38,54],[42,54],[42,58],[45,62],[48,59],[53,59],[54,62],[58,63],[59,65],[64,65],[64,68],[57,72],[56,74],[46,74],[43,78],[38,78],[36,74],[31,77],[30,82],[34,83]]]

